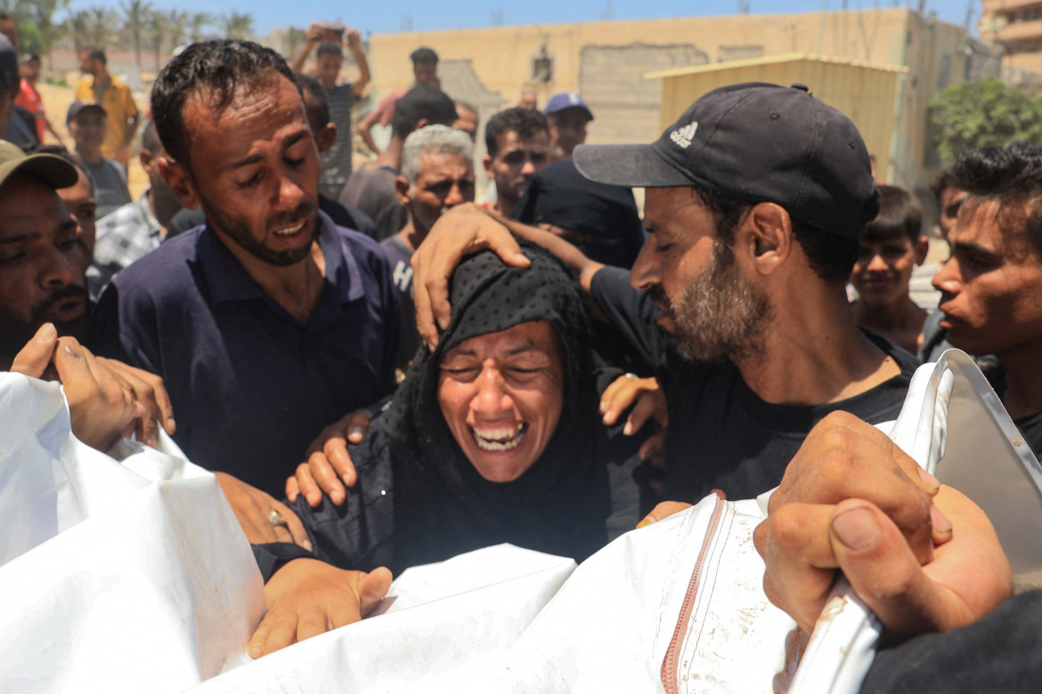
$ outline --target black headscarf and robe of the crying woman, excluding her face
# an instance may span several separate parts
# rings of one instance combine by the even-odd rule
[[[456,267],[452,320],[438,348],[417,353],[390,407],[363,442],[349,446],[358,484],[348,503],[332,507],[324,499],[312,510],[298,499],[320,557],[349,568],[386,564],[398,570],[502,542],[578,561],[604,544],[611,452],[597,413],[588,302],[561,261],[537,246],[522,246],[531,259],[528,268],[507,267],[492,252]],[[521,477],[489,482],[442,414],[440,364],[464,340],[536,320],[549,322],[561,341],[561,418]]]

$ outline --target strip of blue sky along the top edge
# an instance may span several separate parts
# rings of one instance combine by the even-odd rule
[[[680,0],[397,0],[347,3],[343,0],[151,0],[155,7],[177,7],[189,11],[206,11],[214,15],[232,9],[248,11],[253,16],[257,33],[282,26],[305,27],[312,21],[340,21],[354,26],[363,33],[394,33],[411,22],[416,31],[486,27],[493,23],[493,14],[501,14],[502,24],[541,24],[560,22],[589,22],[604,19],[651,19],[733,15],[738,11],[739,0],[733,2],[681,2]],[[870,8],[876,5],[892,6],[893,0],[746,0],[749,10],[758,14],[816,11],[829,9]],[[927,12],[951,24],[962,24],[968,2],[973,3],[973,24],[981,14],[977,0],[927,0]],[[899,3],[903,4],[903,3]],[[918,4],[918,0],[916,0]],[[74,9],[92,6],[119,8],[118,0],[73,0]],[[975,31],[974,31],[975,33]]]

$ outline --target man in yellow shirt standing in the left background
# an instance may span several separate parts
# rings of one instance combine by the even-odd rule
[[[83,103],[97,103],[108,115],[108,134],[101,145],[105,157],[116,159],[124,168],[130,157],[130,140],[138,130],[138,105],[130,87],[116,79],[105,69],[105,52],[95,48],[79,54],[79,70],[92,79],[76,85],[76,99]]]

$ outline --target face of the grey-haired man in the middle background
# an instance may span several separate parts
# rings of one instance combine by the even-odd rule
[[[474,202],[473,162],[454,154],[424,152],[420,173],[402,202],[408,205],[417,230],[430,231],[443,212]]]

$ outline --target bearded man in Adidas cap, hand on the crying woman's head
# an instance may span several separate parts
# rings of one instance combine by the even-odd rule
[[[593,180],[647,189],[632,289],[625,271],[570,262],[656,364],[670,498],[767,491],[829,412],[895,417],[917,362],[859,330],[844,291],[878,206],[849,119],[802,85],[737,84],[700,98],[652,145],[582,146],[574,161]],[[478,248],[527,262],[473,207],[442,217],[414,256],[428,343],[449,315],[443,278]]]

